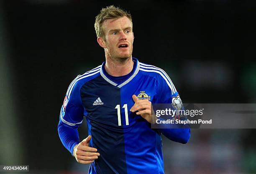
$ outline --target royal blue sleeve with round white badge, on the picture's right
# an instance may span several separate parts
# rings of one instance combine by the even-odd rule
[[[179,93],[165,72],[163,76],[158,76],[157,91],[157,103],[169,103],[178,110],[184,109]],[[188,124],[162,124],[159,131],[168,139],[182,144],[186,144],[190,139],[190,128]]]

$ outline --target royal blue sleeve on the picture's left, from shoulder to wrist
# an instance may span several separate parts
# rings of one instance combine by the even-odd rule
[[[62,144],[73,155],[73,149],[79,144],[77,128],[84,118],[84,107],[82,106],[79,85],[75,80],[70,84],[64,103],[61,106],[59,116],[58,132]]]

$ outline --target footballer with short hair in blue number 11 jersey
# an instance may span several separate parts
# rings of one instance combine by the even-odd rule
[[[151,129],[151,103],[181,102],[177,90],[163,70],[132,58],[130,14],[103,8],[95,30],[106,62],[70,84],[60,139],[79,163],[90,164],[90,174],[164,174],[161,134],[185,144],[190,129]],[[89,136],[80,142],[77,128],[84,116]]]

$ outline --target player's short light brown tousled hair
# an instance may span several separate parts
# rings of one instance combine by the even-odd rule
[[[100,14],[98,14],[95,18],[94,28],[96,31],[97,38],[103,38],[105,40],[105,34],[103,31],[103,22],[107,19],[118,19],[126,16],[132,22],[131,14],[125,10],[122,10],[114,5],[110,5],[106,8],[102,8],[100,10]],[[133,23],[132,23],[133,25]]]

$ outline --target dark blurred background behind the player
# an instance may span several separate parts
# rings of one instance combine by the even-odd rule
[[[130,11],[133,57],[166,70],[183,103],[256,103],[256,1],[0,0],[0,165],[87,173],[57,124],[69,83],[105,60],[94,22],[108,5]],[[164,138],[165,172],[255,174],[255,135],[192,129],[188,144]]]

